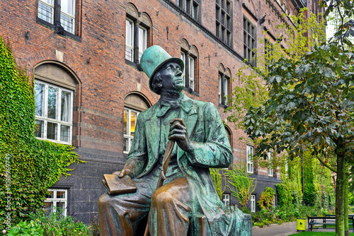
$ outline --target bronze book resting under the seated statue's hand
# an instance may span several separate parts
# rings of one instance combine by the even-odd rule
[[[108,194],[129,194],[137,191],[137,187],[130,178],[130,176],[125,175],[120,178],[118,175],[103,175],[105,179],[102,179],[103,186],[107,189]]]

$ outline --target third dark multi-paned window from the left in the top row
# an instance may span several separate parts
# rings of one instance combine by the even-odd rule
[[[244,17],[244,59],[256,66],[256,27]]]

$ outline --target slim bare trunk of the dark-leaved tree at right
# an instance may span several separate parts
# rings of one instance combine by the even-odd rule
[[[338,138],[337,182],[336,182],[336,236],[344,236],[344,182],[346,177],[346,160],[344,156],[343,138]]]

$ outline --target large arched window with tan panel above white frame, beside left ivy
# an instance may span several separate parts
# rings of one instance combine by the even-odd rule
[[[37,138],[72,144],[72,112],[76,78],[65,66],[40,64],[35,68]]]

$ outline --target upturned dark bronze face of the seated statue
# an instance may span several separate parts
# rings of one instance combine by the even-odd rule
[[[179,64],[176,62],[166,63],[159,72],[162,79],[162,90],[183,90],[183,73]]]

